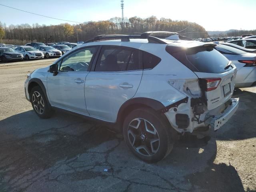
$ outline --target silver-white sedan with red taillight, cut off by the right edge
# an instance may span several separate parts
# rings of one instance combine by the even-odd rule
[[[236,66],[237,74],[235,87],[250,87],[256,85],[255,53],[247,53],[223,44],[217,44],[216,49]]]

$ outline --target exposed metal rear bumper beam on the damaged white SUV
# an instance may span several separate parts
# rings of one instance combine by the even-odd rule
[[[239,98],[230,99],[228,107],[219,115],[210,117],[206,120],[206,126],[211,126],[214,131],[223,126],[236,112],[238,108]]]

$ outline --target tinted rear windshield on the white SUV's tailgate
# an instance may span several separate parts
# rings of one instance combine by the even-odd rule
[[[224,73],[232,69],[229,60],[213,47],[196,47],[186,50],[188,61],[198,70],[205,73]]]

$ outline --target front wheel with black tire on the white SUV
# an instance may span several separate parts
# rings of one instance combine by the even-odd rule
[[[40,94],[39,97],[38,93]],[[33,96],[34,94],[34,96]],[[35,98],[35,99],[34,99]],[[38,99],[38,100],[36,100]],[[42,99],[42,100],[41,100]],[[44,95],[44,92],[42,91],[42,88],[40,86],[35,86],[32,88],[30,92],[30,101],[32,104],[32,107],[34,109],[34,112],[43,119],[50,118],[52,116],[52,107],[50,106],[50,103],[46,99],[46,96]],[[38,103],[39,102],[39,103]],[[42,105],[43,103],[43,105]],[[43,108],[43,110],[42,110]]]

